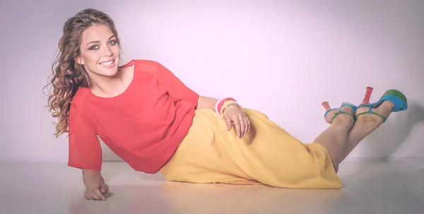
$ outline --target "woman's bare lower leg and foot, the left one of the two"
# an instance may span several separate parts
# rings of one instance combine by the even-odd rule
[[[345,112],[350,112],[353,114],[353,109],[351,107],[341,108]],[[326,121],[330,123],[331,119],[334,117],[338,110],[332,110],[326,115]],[[349,114],[339,114],[334,118],[333,122],[325,131],[323,131],[314,142],[324,145],[324,147],[329,151],[331,160],[334,165],[334,170],[338,171],[338,165],[341,160],[343,160],[343,153],[345,150],[346,138],[348,131],[353,126],[353,117]]]

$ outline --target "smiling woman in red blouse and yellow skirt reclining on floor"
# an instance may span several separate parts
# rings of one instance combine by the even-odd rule
[[[109,189],[98,137],[134,170],[169,181],[338,189],[340,162],[391,112],[407,108],[397,90],[370,104],[372,88],[358,107],[324,102],[330,126],[303,144],[235,99],[198,95],[158,62],[118,66],[118,33],[100,11],[69,18],[59,49],[48,103],[57,136],[69,132],[69,166],[83,170],[88,199],[105,200]]]

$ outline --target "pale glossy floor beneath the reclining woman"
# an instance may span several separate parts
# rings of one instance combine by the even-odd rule
[[[0,213],[424,213],[424,170],[401,161],[343,162],[341,190],[166,182],[104,164],[107,201],[83,198],[66,163],[0,163]]]

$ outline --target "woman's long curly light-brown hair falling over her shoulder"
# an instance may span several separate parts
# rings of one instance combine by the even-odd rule
[[[53,93],[49,94],[47,100],[47,108],[49,112],[53,112],[52,117],[58,118],[58,121],[54,122],[56,137],[68,132],[69,108],[78,88],[90,88],[92,85],[86,69],[75,61],[80,51],[83,31],[92,25],[107,25],[121,47],[114,21],[102,11],[87,8],[66,20],[63,35],[59,40],[59,54],[52,64],[52,79],[45,86],[46,88],[51,84],[53,88]]]

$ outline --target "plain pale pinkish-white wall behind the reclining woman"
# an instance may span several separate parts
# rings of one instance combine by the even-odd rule
[[[160,61],[201,95],[236,97],[305,143],[327,127],[322,101],[401,90],[409,109],[350,157],[424,157],[423,2],[1,1],[0,160],[67,160],[42,87],[65,20],[83,8],[114,18],[124,61]]]

